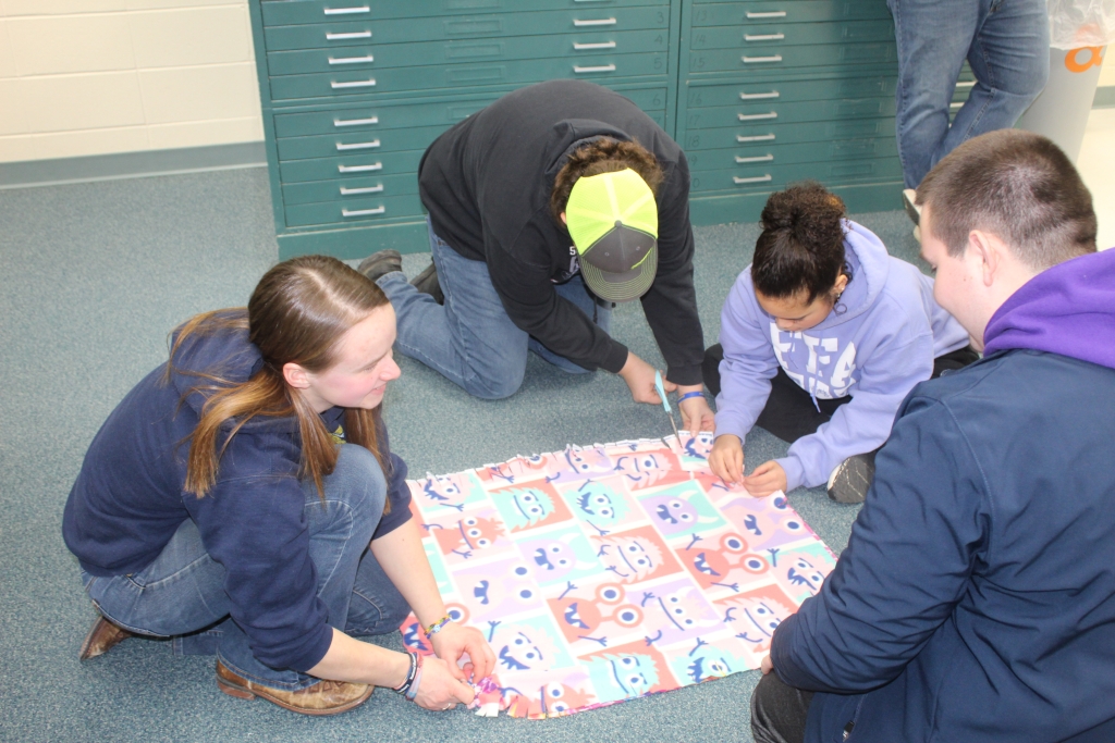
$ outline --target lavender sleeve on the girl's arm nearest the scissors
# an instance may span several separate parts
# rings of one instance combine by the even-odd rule
[[[770,397],[778,360],[767,330],[769,317],[755,301],[752,267],[736,278],[720,313],[720,394],[716,395],[716,436],[731,433],[743,441]]]

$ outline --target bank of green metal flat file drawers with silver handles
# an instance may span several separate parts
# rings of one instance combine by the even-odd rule
[[[896,208],[885,0],[252,0],[281,257],[428,250],[417,167],[516,88],[622,92],[689,157],[695,224],[815,178]]]

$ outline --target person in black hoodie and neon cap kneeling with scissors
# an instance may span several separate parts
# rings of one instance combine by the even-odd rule
[[[434,264],[417,287],[394,251],[360,266],[395,306],[400,353],[500,399],[518,390],[532,350],[573,373],[618,373],[637,402],[656,403],[655,369],[608,332],[612,304],[640,299],[685,428],[712,429],[689,167],[638,106],[578,80],[516,90],[438,137],[418,187]],[[656,215],[640,221],[648,205]]]

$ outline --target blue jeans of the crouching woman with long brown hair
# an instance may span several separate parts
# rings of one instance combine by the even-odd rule
[[[379,462],[367,449],[343,444],[323,485],[324,502],[312,480],[302,490],[310,559],[329,624],[350,635],[398,629],[410,608],[368,549],[387,496]],[[272,688],[295,691],[318,683],[255,659],[248,635],[229,616],[232,602],[224,578],[224,567],[206,554],[191,519],[139,573],[112,578],[81,574],[101,614],[137,634],[173,637],[178,654],[216,653],[230,669]]]

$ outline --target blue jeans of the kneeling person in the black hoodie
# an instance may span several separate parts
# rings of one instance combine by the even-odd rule
[[[429,219],[427,218],[427,225]],[[469,394],[500,400],[523,383],[526,352],[535,352],[564,371],[585,369],[560,356],[520,330],[507,316],[492,285],[487,264],[471,261],[449,247],[429,226],[429,247],[445,305],[411,286],[399,272],[377,282],[395,307],[396,348],[439,372]],[[554,287],[605,333],[611,329],[611,304],[589,293],[580,275]]]

